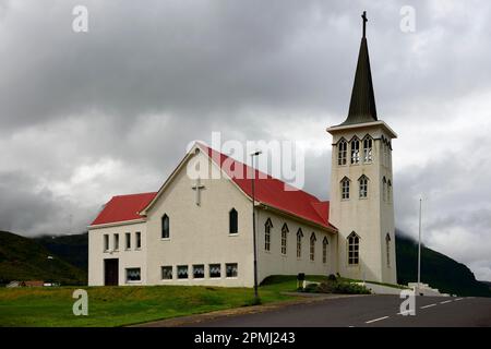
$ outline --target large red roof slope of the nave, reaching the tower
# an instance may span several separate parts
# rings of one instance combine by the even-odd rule
[[[251,176],[252,168],[237,161],[225,154],[216,152],[199,143],[200,147],[207,152],[208,156],[220,166],[233,182],[250,197],[252,197]],[[328,222],[330,202],[320,201],[302,190],[255,170],[254,196],[255,200],[268,206],[287,212],[324,227],[336,229]]]

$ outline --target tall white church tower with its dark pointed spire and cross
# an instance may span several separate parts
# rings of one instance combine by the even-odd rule
[[[378,119],[366,37],[361,38],[348,117],[333,136],[330,221],[339,230],[344,277],[396,284],[392,140]]]

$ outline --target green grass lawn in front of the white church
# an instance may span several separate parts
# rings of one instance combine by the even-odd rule
[[[294,291],[296,287],[295,276],[272,277],[260,287],[262,303],[291,300],[292,297],[282,292]],[[88,316],[74,316],[72,293],[75,289],[77,287],[0,288],[0,326],[122,326],[253,303],[250,288],[85,287]]]

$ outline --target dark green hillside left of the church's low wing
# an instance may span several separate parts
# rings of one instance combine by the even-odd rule
[[[85,285],[87,273],[60,258],[33,239],[0,231],[0,284],[11,280]]]

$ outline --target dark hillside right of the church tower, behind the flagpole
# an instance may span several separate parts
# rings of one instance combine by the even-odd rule
[[[397,281],[403,285],[418,280],[418,244],[396,231]],[[472,272],[451,257],[421,246],[421,282],[445,293],[491,297],[489,287],[476,280]]]

